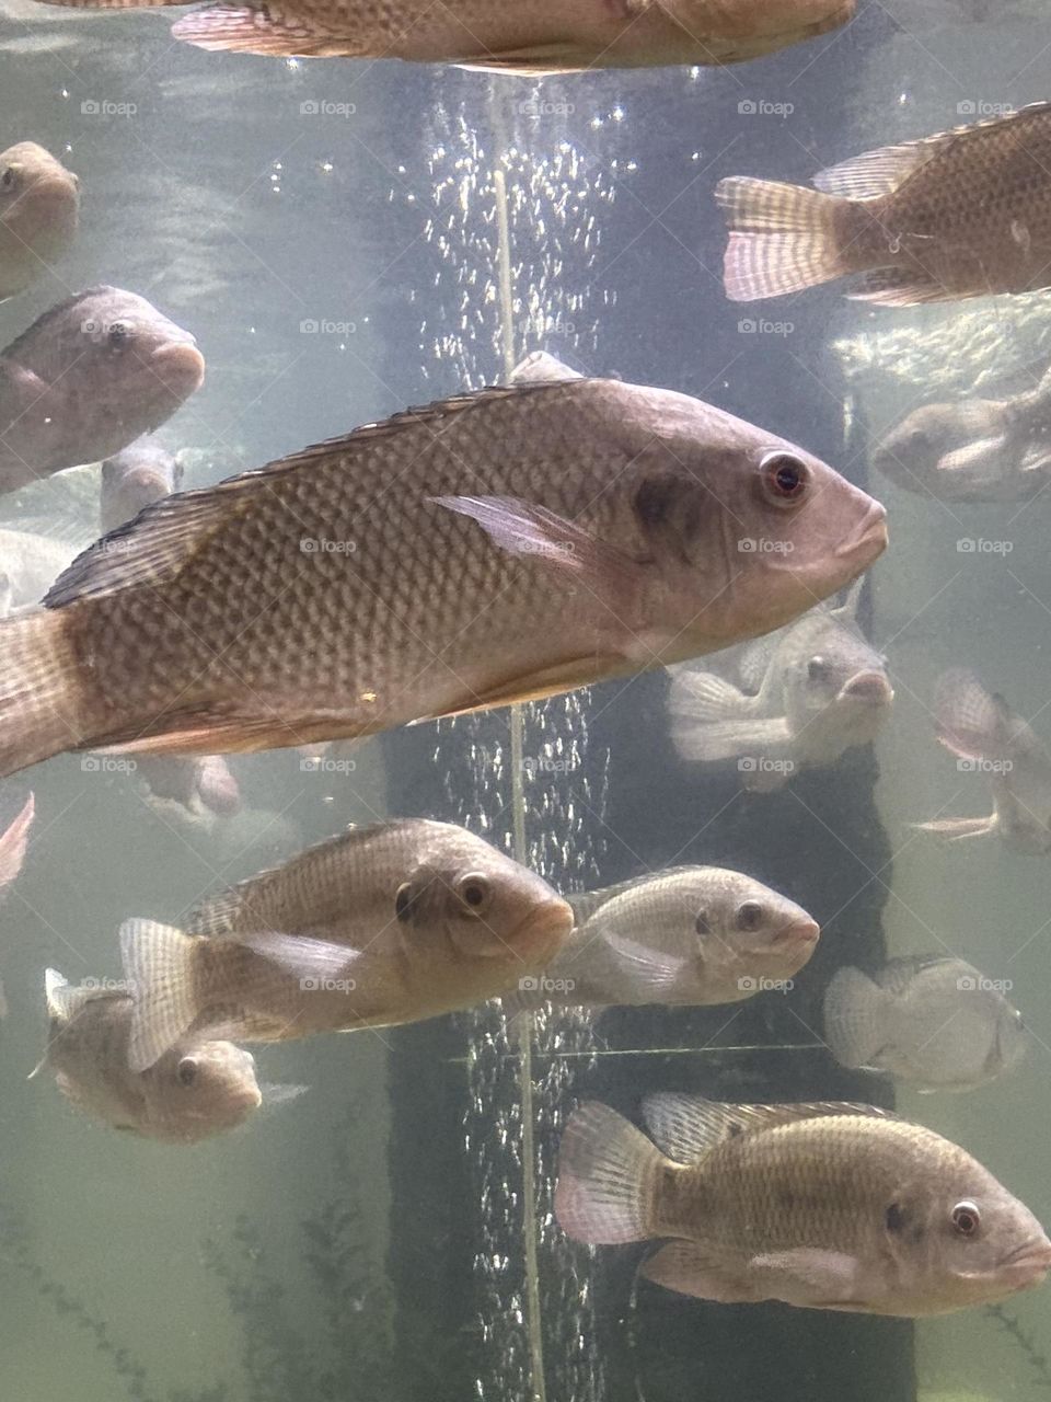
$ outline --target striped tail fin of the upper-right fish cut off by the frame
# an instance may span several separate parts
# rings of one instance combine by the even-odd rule
[[[839,216],[849,200],[739,175],[720,181],[715,193],[730,229],[723,280],[731,301],[776,297],[859,271],[841,252]]]

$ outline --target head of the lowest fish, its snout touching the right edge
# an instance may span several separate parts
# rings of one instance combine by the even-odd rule
[[[933,1173],[887,1203],[884,1230],[900,1288],[916,1314],[944,1314],[1038,1286],[1051,1241],[1033,1213],[978,1162],[947,1145]]]

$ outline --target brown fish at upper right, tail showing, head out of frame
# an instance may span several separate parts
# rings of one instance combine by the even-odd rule
[[[1051,102],[866,151],[817,189],[730,177],[726,294],[754,301],[855,276],[887,307],[1051,286]]]

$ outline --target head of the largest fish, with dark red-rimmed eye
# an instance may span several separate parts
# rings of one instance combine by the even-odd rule
[[[667,400],[632,486],[650,554],[691,610],[684,641],[710,652],[771,632],[883,552],[883,506],[827,463],[696,400]]]

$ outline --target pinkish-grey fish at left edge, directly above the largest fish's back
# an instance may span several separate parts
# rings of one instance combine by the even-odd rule
[[[193,336],[144,297],[91,287],[0,352],[0,492],[112,457],[205,379]]]

